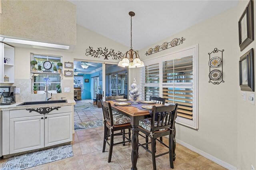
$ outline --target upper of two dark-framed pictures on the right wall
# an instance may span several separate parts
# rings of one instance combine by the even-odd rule
[[[254,41],[253,1],[250,0],[238,21],[239,47],[243,51]]]

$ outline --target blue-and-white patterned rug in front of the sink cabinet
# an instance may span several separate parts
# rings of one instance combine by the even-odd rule
[[[72,144],[67,144],[64,146],[14,156],[6,163],[1,164],[1,170],[22,170],[72,156],[74,156]]]

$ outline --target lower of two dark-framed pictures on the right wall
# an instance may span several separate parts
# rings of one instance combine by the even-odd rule
[[[242,91],[254,91],[254,54],[253,48],[239,60],[239,84]]]

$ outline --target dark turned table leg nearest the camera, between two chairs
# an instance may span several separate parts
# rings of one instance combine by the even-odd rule
[[[132,168],[131,170],[137,170],[138,160],[138,126],[132,125]]]

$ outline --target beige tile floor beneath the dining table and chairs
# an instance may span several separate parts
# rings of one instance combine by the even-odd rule
[[[73,157],[35,166],[30,168],[30,170],[130,170],[132,166],[130,159],[131,144],[126,143],[125,146],[122,146],[122,144],[114,146],[112,161],[108,163],[108,147],[106,147],[106,152],[102,153],[102,137],[102,127],[76,131],[73,134]],[[141,136],[139,136],[139,139],[144,140]],[[164,137],[163,140],[168,144],[168,138]],[[122,137],[115,136],[114,142],[120,141],[122,141]],[[166,152],[167,150],[159,142],[157,142],[156,148],[157,154]],[[6,160],[3,160],[3,163]],[[168,154],[156,158],[156,165],[158,170],[171,170]],[[152,170],[151,154],[141,147],[139,148],[137,168],[138,170]],[[177,144],[174,169],[224,170],[225,168]]]

